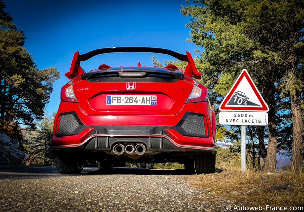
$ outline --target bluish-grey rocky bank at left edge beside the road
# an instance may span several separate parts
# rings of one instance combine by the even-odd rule
[[[0,165],[21,165],[27,154],[18,149],[18,141],[0,133]]]

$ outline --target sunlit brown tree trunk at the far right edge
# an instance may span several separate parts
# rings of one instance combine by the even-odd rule
[[[299,93],[296,92],[295,95],[291,93],[290,99],[293,124],[291,168],[301,170],[303,166],[303,154],[301,152],[304,149],[304,134]]]

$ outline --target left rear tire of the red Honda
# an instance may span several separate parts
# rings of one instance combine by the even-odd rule
[[[85,161],[74,158],[55,157],[56,168],[61,174],[80,174],[84,168]]]

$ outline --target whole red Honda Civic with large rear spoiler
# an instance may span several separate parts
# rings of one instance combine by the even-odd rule
[[[80,62],[113,52],[154,52],[187,61],[185,70],[110,67],[85,72]],[[197,174],[215,171],[215,113],[189,52],[150,47],[97,49],[74,54],[65,73],[49,147],[62,174],[77,174],[85,160],[110,169],[113,163],[185,164]],[[193,77],[195,79],[193,79]]]

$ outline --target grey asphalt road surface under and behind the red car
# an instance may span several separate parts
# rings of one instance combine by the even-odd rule
[[[85,167],[62,175],[56,167],[0,166],[0,211],[225,211],[203,201],[184,170]]]

